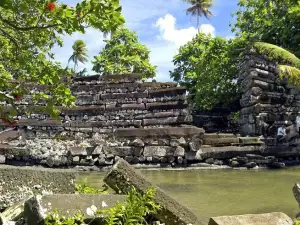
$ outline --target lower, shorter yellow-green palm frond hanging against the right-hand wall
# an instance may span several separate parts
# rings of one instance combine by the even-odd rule
[[[300,70],[294,66],[278,65],[280,79],[287,78],[288,83],[300,88]]]

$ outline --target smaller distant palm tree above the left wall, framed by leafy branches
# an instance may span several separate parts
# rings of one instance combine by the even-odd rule
[[[69,58],[68,63],[70,63],[70,61],[73,61],[74,70],[76,71],[78,62],[84,64],[88,61],[87,48],[86,48],[86,44],[82,40],[75,41],[72,48],[73,48],[73,54]]]

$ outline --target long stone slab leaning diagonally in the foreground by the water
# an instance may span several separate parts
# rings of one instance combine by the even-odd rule
[[[123,159],[118,160],[106,174],[104,182],[113,190],[121,191],[121,193],[128,193],[132,187],[145,193],[148,188],[154,187],[156,190],[155,201],[162,207],[158,215],[154,216],[165,225],[204,225],[192,211],[144,178],[140,172]]]

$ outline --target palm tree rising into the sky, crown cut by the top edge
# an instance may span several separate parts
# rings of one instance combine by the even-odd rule
[[[182,0],[184,2],[190,3],[191,6],[186,9],[186,14],[197,17],[197,27],[200,28],[200,17],[204,16],[207,19],[213,15],[209,10],[213,6],[212,0]]]

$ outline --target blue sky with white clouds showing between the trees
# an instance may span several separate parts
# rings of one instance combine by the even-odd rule
[[[75,5],[80,0],[62,0],[68,5]],[[231,13],[237,9],[238,0],[214,0],[211,11],[214,16],[207,20],[200,19],[202,32],[213,36],[230,38],[229,23],[233,21]],[[139,41],[150,50],[150,62],[157,66],[155,79],[159,82],[171,81],[169,71],[173,70],[173,57],[180,46],[192,40],[197,33],[197,20],[187,16],[185,9],[189,6],[182,0],[120,0],[122,14],[125,17],[126,28],[137,32]],[[91,61],[104,47],[103,34],[88,28],[85,34],[74,33],[64,36],[64,46],[55,47],[55,59],[64,66],[72,55],[74,41],[83,40],[88,48],[89,62],[80,64],[79,69],[87,68],[89,75],[92,71]]]

